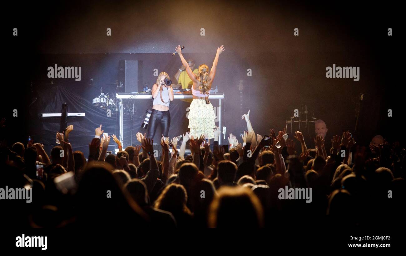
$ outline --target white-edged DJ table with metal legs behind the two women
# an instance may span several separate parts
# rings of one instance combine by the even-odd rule
[[[152,99],[151,94],[132,94],[132,93],[117,93],[116,98],[120,100],[119,103],[119,130],[120,130],[120,138],[119,140],[121,141],[121,144],[123,145],[124,148],[124,141],[123,141],[123,100],[124,99],[135,99],[135,100],[145,100],[145,99]],[[192,99],[193,95],[191,94],[173,94],[174,99]],[[218,127],[222,129],[221,126],[221,114],[222,114],[222,107],[221,107],[221,100],[224,99],[224,94],[210,94],[209,99],[217,99],[218,100]],[[218,143],[221,145],[221,136],[218,141]]]

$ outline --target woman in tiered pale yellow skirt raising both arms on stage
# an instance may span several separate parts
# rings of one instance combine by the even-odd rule
[[[193,71],[188,65],[188,62],[186,62],[182,55],[180,45],[176,47],[176,51],[179,54],[182,64],[186,67],[186,72],[193,81],[193,100],[192,103],[190,103],[189,108],[188,128],[190,129],[190,135],[192,135],[194,138],[199,138],[202,134],[207,134],[208,139],[214,138],[213,129],[216,127],[214,124],[214,118],[216,118],[216,115],[214,114],[213,105],[209,101],[209,91],[212,88],[214,76],[216,75],[218,56],[224,50],[223,45],[217,47],[216,57],[214,58],[213,66],[210,72],[209,67],[206,64],[201,64],[199,66],[199,73],[194,75]]]

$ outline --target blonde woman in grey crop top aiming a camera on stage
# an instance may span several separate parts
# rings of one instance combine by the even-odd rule
[[[161,72],[156,79],[156,83],[152,86],[153,104],[147,133],[149,139],[153,139],[155,136],[158,125],[161,127],[162,135],[168,137],[169,126],[171,125],[169,101],[173,100],[173,89],[171,85],[165,85],[165,79],[170,79],[169,75]]]

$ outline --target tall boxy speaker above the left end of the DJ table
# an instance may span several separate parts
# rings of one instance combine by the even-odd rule
[[[119,85],[117,92],[132,93],[143,91],[143,61],[119,61]]]

